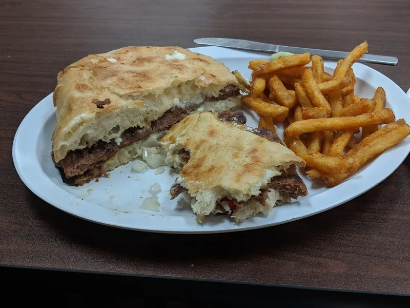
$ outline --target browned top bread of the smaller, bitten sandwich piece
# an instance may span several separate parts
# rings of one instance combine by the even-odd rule
[[[167,161],[171,164],[180,149],[190,152],[188,163],[179,172],[178,183],[198,200],[229,196],[246,201],[257,196],[259,189],[270,178],[280,175],[281,170],[292,164],[305,165],[287,147],[246,128],[221,122],[217,113],[209,111],[191,114],[173,125],[160,144],[168,152]]]

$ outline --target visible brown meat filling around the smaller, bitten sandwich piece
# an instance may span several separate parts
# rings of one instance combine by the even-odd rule
[[[219,120],[227,122],[235,122],[236,124],[245,124],[246,118],[242,112],[233,112],[233,111],[223,111],[219,113]],[[243,121],[244,119],[244,121]],[[274,134],[271,130],[267,128],[253,128],[250,129],[251,132],[257,134],[259,137],[268,139],[272,142],[281,143],[279,137]],[[181,162],[187,163],[189,160],[189,152],[185,149],[181,149],[178,152],[178,155],[181,159]],[[291,165],[288,169],[282,171],[282,174],[277,177],[273,177],[270,182],[267,184],[267,187],[261,189],[261,192],[255,198],[261,203],[264,204],[265,200],[268,198],[268,193],[271,189],[276,189],[283,199],[289,199],[301,196],[306,196],[308,194],[308,189],[303,183],[302,179],[298,176],[296,172],[296,165]],[[175,199],[181,192],[186,191],[185,187],[182,187],[178,183],[174,183],[170,189],[171,200]],[[254,197],[253,197],[254,198]],[[237,206],[241,206],[242,203],[236,200],[221,200],[229,201],[228,205],[231,209],[234,209]]]

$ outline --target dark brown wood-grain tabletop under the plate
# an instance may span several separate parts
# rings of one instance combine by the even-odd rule
[[[145,4],[143,4],[145,3]],[[410,2],[250,0],[0,1],[0,263],[84,271],[410,293],[410,160],[323,214],[220,235],[132,232],[74,218],[18,178],[11,145],[56,73],[128,45],[194,47],[221,36],[399,57],[373,66],[410,86]]]

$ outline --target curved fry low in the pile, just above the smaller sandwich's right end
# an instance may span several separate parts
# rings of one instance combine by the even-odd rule
[[[296,122],[295,122],[296,123]],[[341,157],[327,156],[321,153],[310,153],[303,143],[296,138],[285,139],[286,145],[301,157],[306,165],[326,174],[343,174],[350,172],[354,166]]]

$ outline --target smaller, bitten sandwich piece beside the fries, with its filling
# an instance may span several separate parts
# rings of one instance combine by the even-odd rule
[[[170,189],[192,197],[200,222],[215,214],[237,222],[306,196],[296,166],[305,162],[267,128],[250,128],[241,112],[199,112],[173,125],[160,145],[178,171]]]

